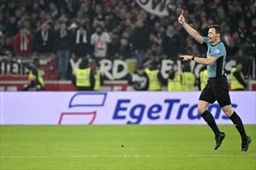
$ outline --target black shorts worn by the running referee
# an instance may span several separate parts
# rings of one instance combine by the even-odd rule
[[[199,100],[213,104],[216,100],[220,107],[231,104],[228,82],[225,76],[209,78],[206,87],[202,90]]]

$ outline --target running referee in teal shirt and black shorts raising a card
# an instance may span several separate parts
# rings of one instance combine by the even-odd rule
[[[207,46],[206,58],[199,56],[180,56],[183,61],[194,60],[207,66],[208,77],[206,87],[202,90],[199,97],[198,109],[200,116],[206,121],[215,134],[216,146],[215,150],[220,147],[226,134],[221,132],[216,125],[213,115],[209,113],[207,107],[216,100],[223,112],[233,121],[242,138],[241,151],[247,151],[251,138],[247,136],[244,130],[244,124],[237,113],[231,108],[230,94],[228,90],[227,77],[224,73],[224,64],[226,59],[226,49],[221,42],[223,29],[218,25],[209,26],[208,37],[202,37],[199,33],[185,22],[183,15],[178,17],[178,22],[183,26],[197,42],[203,46]]]

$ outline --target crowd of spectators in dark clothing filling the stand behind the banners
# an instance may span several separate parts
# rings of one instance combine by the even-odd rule
[[[56,56],[62,78],[70,57],[137,58],[140,66],[144,56],[174,61],[181,53],[205,56],[206,49],[178,24],[182,8],[202,36],[209,25],[223,27],[228,58],[256,56],[253,0],[173,0],[164,17],[146,12],[135,0],[2,0],[0,55]],[[102,40],[95,42],[97,36]]]

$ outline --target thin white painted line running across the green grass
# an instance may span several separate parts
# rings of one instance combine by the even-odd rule
[[[255,157],[256,155],[9,155],[0,158],[168,158],[168,157]]]

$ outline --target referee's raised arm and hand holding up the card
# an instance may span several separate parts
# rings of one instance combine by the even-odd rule
[[[187,22],[185,22],[185,18],[183,15],[179,15],[178,22],[183,26],[183,28],[186,30],[186,32],[189,33],[190,36],[192,36],[197,42],[202,44],[203,37],[197,32],[195,29],[193,29]]]

